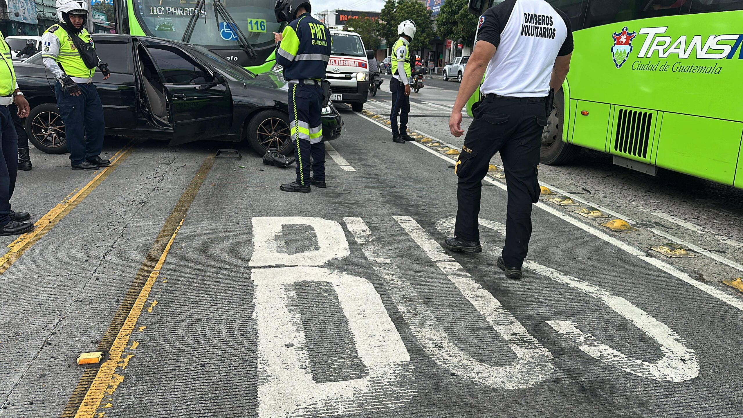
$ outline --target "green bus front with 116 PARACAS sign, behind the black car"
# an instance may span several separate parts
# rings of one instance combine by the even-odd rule
[[[253,73],[276,65],[275,0],[113,0],[116,30],[201,45]]]

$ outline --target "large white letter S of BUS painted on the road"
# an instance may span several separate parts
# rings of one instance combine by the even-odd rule
[[[449,235],[454,231],[455,222],[456,218],[454,217],[441,219],[436,223],[436,228],[441,231],[441,234]],[[502,223],[480,219],[479,224],[505,236],[506,227]],[[501,254],[501,248],[496,247],[496,245],[483,245],[483,248],[487,254],[493,255],[493,257],[499,257]],[[557,283],[570,286],[601,300],[611,310],[627,318],[632,324],[635,324],[635,327],[655,341],[661,348],[663,357],[652,363],[632,358],[603,344],[593,335],[581,331],[577,324],[572,321],[545,321],[550,327],[568,338],[572,344],[583,350],[584,353],[620,370],[663,382],[684,382],[699,375],[699,359],[695,351],[666,324],[648,315],[647,312],[637,308],[628,300],[611,295],[611,293],[598,286],[562,273],[562,271],[543,266],[533,260],[525,260],[524,267],[555,280]]]

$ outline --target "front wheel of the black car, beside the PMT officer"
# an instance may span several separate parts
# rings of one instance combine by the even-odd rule
[[[293,153],[288,115],[270,109],[253,115],[247,123],[247,143],[259,155],[269,150],[282,155]]]

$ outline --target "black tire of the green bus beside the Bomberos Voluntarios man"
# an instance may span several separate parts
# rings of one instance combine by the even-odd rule
[[[580,147],[562,141],[562,127],[565,120],[565,94],[562,89],[555,93],[552,114],[547,118],[547,126],[542,132],[539,148],[539,162],[546,165],[570,164],[580,153]]]

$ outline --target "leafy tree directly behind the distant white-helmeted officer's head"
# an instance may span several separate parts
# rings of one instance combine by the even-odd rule
[[[421,51],[429,48],[435,33],[431,10],[416,0],[387,0],[377,23],[377,35],[387,39],[387,45],[392,46],[398,40],[398,25],[403,20],[415,22],[415,38],[410,42],[411,51]]]

